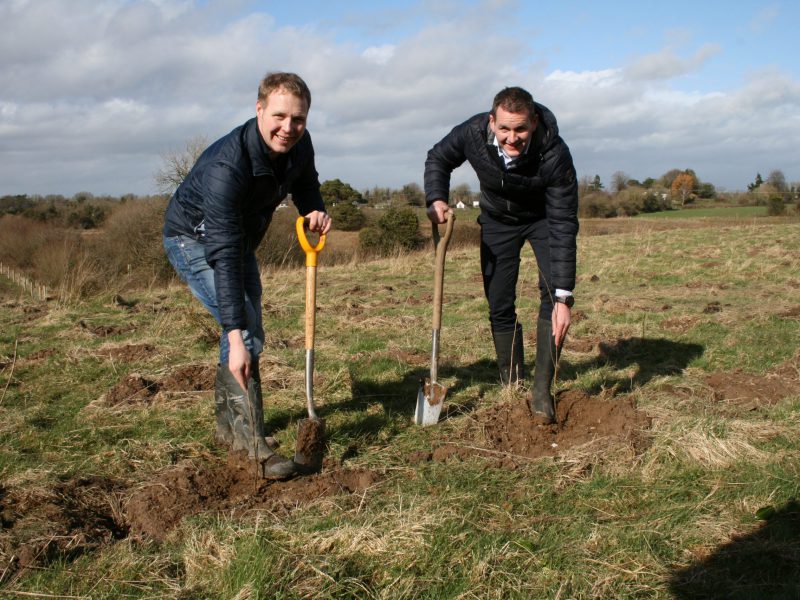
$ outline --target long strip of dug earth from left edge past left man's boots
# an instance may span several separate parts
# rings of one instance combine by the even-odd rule
[[[185,517],[287,514],[316,499],[363,494],[380,477],[334,469],[289,481],[257,478],[248,461],[186,461],[144,483],[82,476],[50,489],[0,484],[0,584],[128,537],[163,540]]]

